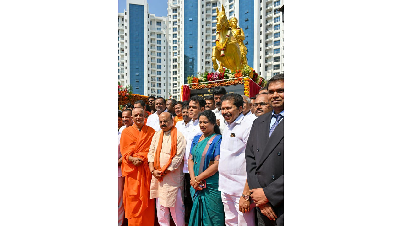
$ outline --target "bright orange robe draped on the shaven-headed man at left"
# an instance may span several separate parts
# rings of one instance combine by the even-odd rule
[[[121,133],[120,152],[123,156],[121,174],[125,177],[123,205],[129,226],[153,226],[155,199],[150,199],[152,175],[148,166],[148,151],[155,130],[144,124],[141,131],[135,125]],[[129,156],[142,159],[140,166],[128,160]]]

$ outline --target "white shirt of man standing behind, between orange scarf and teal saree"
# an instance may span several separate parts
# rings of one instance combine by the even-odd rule
[[[183,121],[184,122],[184,121]],[[179,123],[179,122],[177,122]],[[176,123],[176,125],[177,125]],[[186,139],[186,153],[184,155],[184,167],[183,167],[183,172],[184,173],[189,173],[189,156],[190,156],[190,148],[191,148],[191,143],[193,143],[193,139],[197,135],[203,134],[200,129],[198,119],[191,119],[187,125],[184,125],[183,127],[178,128],[178,131],[181,132],[181,130],[184,130],[182,134],[184,135],[184,138]]]

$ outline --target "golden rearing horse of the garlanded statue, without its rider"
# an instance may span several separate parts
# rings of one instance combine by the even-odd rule
[[[219,12],[216,7],[216,46],[212,48],[213,70],[218,69],[224,72],[224,67],[229,68],[232,72],[243,68],[242,53],[238,44],[238,40],[232,35],[232,28],[229,25],[228,17],[224,5],[222,11]]]

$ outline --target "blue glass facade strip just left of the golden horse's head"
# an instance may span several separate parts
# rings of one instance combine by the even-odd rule
[[[197,74],[197,0],[184,1],[184,84],[187,84],[187,76]]]

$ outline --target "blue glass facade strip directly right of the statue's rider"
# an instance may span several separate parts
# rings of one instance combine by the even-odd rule
[[[244,31],[244,45],[246,45],[247,63],[254,68],[254,1],[239,0],[239,26]],[[248,29],[244,29],[248,26]]]

